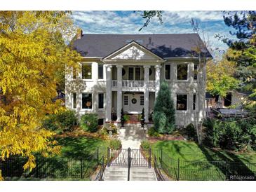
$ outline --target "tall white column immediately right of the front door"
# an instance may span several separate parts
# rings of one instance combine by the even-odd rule
[[[144,66],[144,113],[145,122],[149,122],[149,68],[150,66]]]

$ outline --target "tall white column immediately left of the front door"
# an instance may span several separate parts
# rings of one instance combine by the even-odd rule
[[[117,121],[121,121],[121,109],[122,109],[122,65],[117,65],[117,104],[116,115]]]

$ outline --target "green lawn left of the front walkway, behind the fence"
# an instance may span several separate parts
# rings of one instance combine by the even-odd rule
[[[32,172],[24,172],[22,168],[27,161],[26,158],[17,158],[11,163],[2,165],[5,179],[89,180],[97,168],[97,147],[107,149],[108,146],[105,140],[87,137],[63,137],[57,140],[62,146],[60,156],[49,158],[37,156],[37,167]]]

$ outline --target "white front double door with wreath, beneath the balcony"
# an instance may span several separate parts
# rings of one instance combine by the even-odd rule
[[[144,107],[143,94],[124,94],[123,95],[123,111],[128,114],[141,114]]]

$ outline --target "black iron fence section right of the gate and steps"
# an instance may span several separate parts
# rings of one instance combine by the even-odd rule
[[[187,181],[256,180],[256,163],[180,160],[161,150],[152,151],[160,170],[170,179]]]

